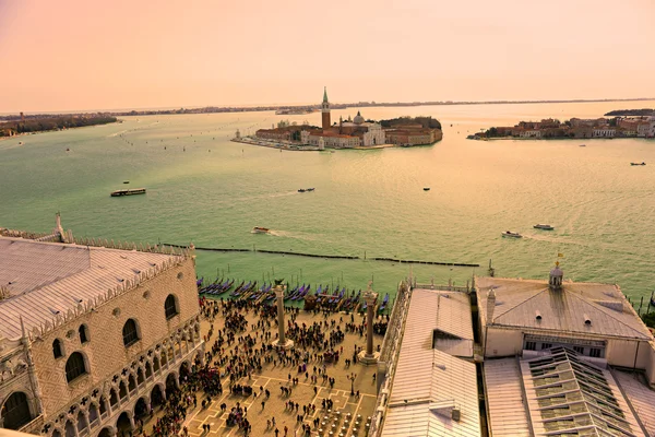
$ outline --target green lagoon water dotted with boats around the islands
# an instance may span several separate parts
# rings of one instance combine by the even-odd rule
[[[126,117],[123,123],[24,137],[24,145],[0,141],[0,226],[49,231],[60,211],[78,236],[481,264],[474,271],[199,251],[205,277],[285,277],[349,288],[365,288],[372,279],[382,293],[393,293],[410,273],[420,283],[452,279],[464,285],[472,274],[486,274],[489,259],[501,276],[546,277],[563,253],[567,277],[618,283],[634,300],[655,287],[654,141],[585,140],[580,147],[579,140],[465,139],[523,119],[599,117],[633,106],[364,108],[373,119],[431,115],[441,120],[444,139],[432,146],[335,153],[229,141],[237,128],[254,133],[283,118],[273,113]],[[335,110],[332,117],[355,114]],[[319,113],[285,118],[320,122]],[[635,161],[648,165],[631,167]],[[147,194],[109,197],[128,187],[145,187]],[[297,192],[307,187],[315,191]],[[533,229],[536,223],[556,231]],[[253,226],[273,233],[251,234]],[[502,238],[505,229],[525,237]]]

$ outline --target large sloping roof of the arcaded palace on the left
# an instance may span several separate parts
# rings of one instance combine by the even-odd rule
[[[0,237],[0,336],[52,320],[177,256]]]

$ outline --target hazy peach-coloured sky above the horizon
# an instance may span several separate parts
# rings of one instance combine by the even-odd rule
[[[0,113],[655,97],[655,1],[0,0]]]

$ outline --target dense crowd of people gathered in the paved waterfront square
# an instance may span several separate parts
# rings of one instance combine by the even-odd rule
[[[234,401],[235,395],[261,397],[261,411],[258,412],[258,415],[261,416],[265,413],[266,400],[269,400],[271,392],[261,386],[258,390],[258,387],[248,382],[252,380],[253,374],[260,374],[265,365],[297,369],[298,377],[293,376],[289,371],[288,383],[281,385],[279,392],[283,398],[287,398],[287,410],[296,413],[299,435],[309,436],[312,425],[317,427],[318,424],[317,421],[306,421],[306,417],[313,415],[318,406],[330,410],[332,401],[324,399],[319,405],[313,403],[300,405],[293,398],[294,387],[298,385],[302,376],[306,382],[314,386],[314,394],[318,393],[320,378],[322,383],[331,388],[334,387],[336,378],[329,374],[326,363],[336,363],[340,356],[343,356],[344,347],[340,346],[340,343],[344,341],[346,332],[359,333],[360,336],[365,335],[364,318],[359,323],[355,321],[354,315],[349,315],[349,322],[344,320],[344,317],[340,317],[338,321],[329,320],[330,310],[323,309],[323,320],[307,324],[297,322],[298,308],[286,308],[285,335],[293,339],[295,345],[289,350],[285,350],[273,345],[274,340],[278,336],[277,333],[272,334],[272,331],[277,330],[275,305],[254,303],[247,299],[207,300],[204,298],[201,298],[200,304],[201,315],[210,323],[209,332],[204,335],[204,362],[198,359],[189,376],[181,381],[180,389],[167,393],[165,414],[153,424],[150,436],[164,437],[177,435],[180,432],[182,435],[188,435],[188,429],[182,427],[182,424],[187,411],[196,405],[195,393],[204,392],[206,399],[203,399],[201,403],[201,408],[204,409],[212,402],[213,398],[223,394],[222,380],[228,385],[231,394],[229,398],[224,399],[226,402]],[[247,316],[249,314],[258,316],[255,322],[248,321]],[[214,329],[217,318],[224,321],[223,328]],[[374,326],[373,329],[380,332],[382,324],[385,329],[385,321],[376,323],[379,327],[376,328]],[[344,326],[343,330],[342,326]],[[346,366],[357,362],[359,351],[359,347],[354,347],[353,359],[346,359]],[[248,409],[241,405],[241,401],[236,401],[234,406],[228,409],[226,402],[221,404],[221,410],[227,413],[227,426],[238,426],[243,435],[251,434],[252,425],[248,420]],[[274,416],[267,420],[267,424],[275,435],[281,433]],[[205,425],[203,430],[210,432],[211,429],[209,425]],[[287,430],[288,428],[284,429],[285,436]]]

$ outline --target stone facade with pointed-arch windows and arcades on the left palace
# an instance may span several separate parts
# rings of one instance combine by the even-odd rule
[[[193,252],[160,257],[139,280],[51,323],[23,327],[21,339],[0,333],[0,427],[112,436],[203,359]]]

